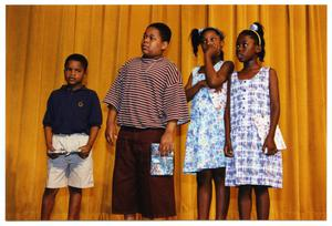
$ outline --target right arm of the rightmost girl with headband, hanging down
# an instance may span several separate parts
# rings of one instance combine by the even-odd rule
[[[278,88],[278,76],[273,69],[270,69],[269,79],[269,90],[270,90],[270,130],[268,136],[264,141],[262,151],[268,148],[268,155],[273,155],[278,152],[274,143],[274,132],[280,116],[280,101],[279,101],[279,88]]]

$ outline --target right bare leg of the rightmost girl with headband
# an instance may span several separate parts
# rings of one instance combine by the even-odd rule
[[[255,186],[257,219],[269,219],[270,196],[267,186]]]

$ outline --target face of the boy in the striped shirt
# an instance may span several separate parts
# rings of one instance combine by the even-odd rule
[[[168,42],[163,41],[159,30],[149,27],[145,30],[141,43],[142,53],[146,58],[158,58],[168,47]]]

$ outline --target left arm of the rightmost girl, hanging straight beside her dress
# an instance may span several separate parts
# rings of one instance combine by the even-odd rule
[[[227,83],[227,102],[225,109],[225,146],[224,152],[227,157],[232,157],[232,148],[230,141],[230,76]]]

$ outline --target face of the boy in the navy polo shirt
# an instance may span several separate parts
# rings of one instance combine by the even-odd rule
[[[64,79],[69,85],[82,84],[85,70],[80,61],[69,61],[64,69]]]

